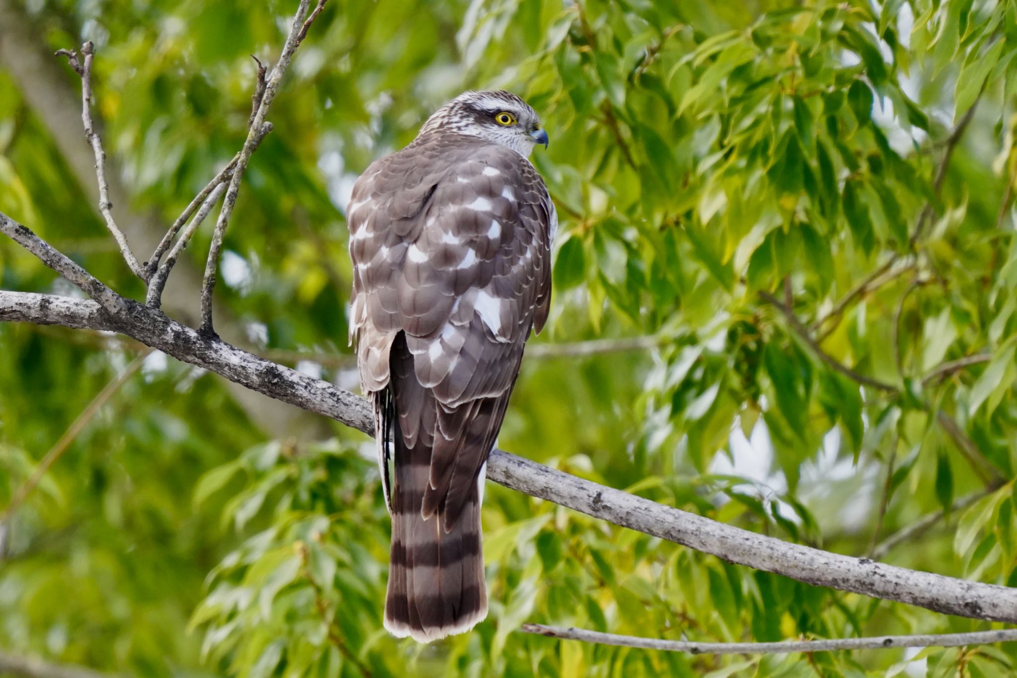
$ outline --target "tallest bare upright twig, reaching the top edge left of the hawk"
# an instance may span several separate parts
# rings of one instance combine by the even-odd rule
[[[201,326],[200,332],[202,334],[215,335],[216,331],[213,328],[212,322],[212,293],[216,287],[216,267],[219,264],[219,253],[223,247],[223,238],[226,235],[226,227],[230,223],[230,217],[233,214],[233,207],[237,202],[237,192],[240,189],[240,181],[243,179],[244,172],[247,170],[247,164],[250,162],[251,155],[257,147],[257,144],[261,137],[261,126],[264,123],[264,117],[268,113],[268,107],[272,106],[273,100],[276,98],[276,93],[279,89],[279,84],[283,79],[283,74],[286,72],[287,67],[290,65],[290,59],[293,57],[293,53],[296,51],[297,47],[300,46],[300,42],[307,35],[307,29],[310,27],[311,22],[321,11],[321,7],[324,5],[324,0],[318,0],[317,6],[314,8],[314,12],[307,16],[307,8],[309,6],[309,0],[300,0],[300,6],[297,8],[297,13],[293,17],[293,23],[290,26],[290,35],[286,39],[286,43],[283,45],[283,52],[279,55],[279,61],[276,62],[275,67],[272,69],[272,73],[268,75],[268,79],[264,85],[264,94],[261,96],[261,102],[258,104],[257,113],[254,114],[254,119],[249,125],[247,131],[247,140],[244,141],[244,146],[240,151],[240,158],[237,160],[236,167],[233,169],[233,176],[230,178],[230,186],[226,191],[226,199],[223,201],[223,208],[219,212],[219,220],[216,222],[216,231],[212,237],[212,246],[208,248],[208,260],[204,267],[204,283],[201,289]],[[304,18],[307,18],[305,21]]]

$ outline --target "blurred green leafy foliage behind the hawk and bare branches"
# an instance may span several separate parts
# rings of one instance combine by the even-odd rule
[[[0,209],[140,295],[92,206],[79,82],[47,53],[95,41],[114,210],[153,242],[240,147],[249,55],[275,58],[294,4],[0,1]],[[355,388],[353,181],[446,99],[504,86],[550,133],[534,163],[561,231],[551,320],[502,447],[781,539],[1013,585],[1015,55],[1013,0],[333,0],[241,188],[217,327]],[[211,227],[174,272],[171,315],[194,317],[186,281]],[[0,287],[74,293],[9,242]],[[105,334],[0,324],[0,506],[86,414],[0,526],[6,651],[146,676],[1017,663],[1013,645],[712,658],[514,632],[990,625],[735,567],[494,486],[488,620],[398,641],[380,624],[388,522],[364,436],[161,354],[135,361],[141,347]]]

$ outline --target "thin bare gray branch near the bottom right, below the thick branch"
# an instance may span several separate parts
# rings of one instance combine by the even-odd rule
[[[939,635],[877,635],[861,638],[832,640],[780,640],[777,642],[693,642],[689,640],[662,640],[638,635],[601,633],[582,628],[564,628],[544,624],[523,624],[525,633],[536,633],[551,638],[582,640],[622,648],[664,650],[690,655],[774,655],[783,653],[818,653],[846,650],[889,650],[891,648],[960,648],[992,642],[1017,640],[1017,629],[972,631],[969,633],[943,633]]]

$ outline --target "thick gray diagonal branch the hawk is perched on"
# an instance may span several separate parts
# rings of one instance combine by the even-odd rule
[[[364,433],[373,432],[371,411],[363,398],[218,338],[203,336],[160,311],[128,300],[124,302],[128,304],[127,311],[114,316],[93,301],[0,292],[0,321],[60,323],[118,331],[253,390],[332,417]],[[894,567],[866,558],[782,542],[598,485],[501,450],[492,453],[487,477],[534,497],[732,563],[945,614],[1017,622],[1015,589]]]

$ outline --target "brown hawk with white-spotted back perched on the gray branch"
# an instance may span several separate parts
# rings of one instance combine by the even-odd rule
[[[351,342],[392,515],[384,626],[428,642],[487,616],[484,472],[551,299],[557,215],[526,102],[467,91],[374,162],[347,208]]]

